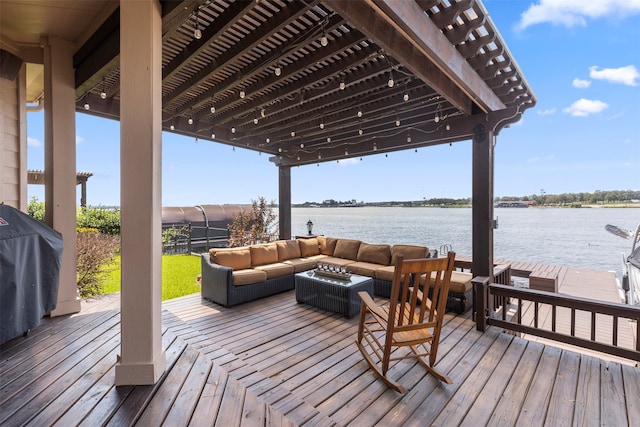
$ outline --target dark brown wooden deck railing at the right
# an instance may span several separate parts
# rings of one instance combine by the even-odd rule
[[[514,288],[484,277],[474,278],[473,286],[479,331],[493,325],[640,362],[639,307]],[[635,342],[624,347],[619,332],[628,325],[622,322],[636,322]]]

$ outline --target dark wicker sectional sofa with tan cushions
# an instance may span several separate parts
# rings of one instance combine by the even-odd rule
[[[202,255],[201,293],[224,306],[294,289],[294,274],[319,262],[345,266],[350,273],[373,279],[374,294],[388,298],[398,254],[425,258],[418,245],[370,244],[353,239],[318,236],[280,240],[240,248],[213,248]],[[471,307],[471,273],[454,271],[447,307],[461,313]]]

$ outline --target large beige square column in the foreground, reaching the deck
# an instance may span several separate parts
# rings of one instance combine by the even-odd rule
[[[157,0],[120,2],[121,359],[116,385],[165,370],[162,348],[162,17]]]

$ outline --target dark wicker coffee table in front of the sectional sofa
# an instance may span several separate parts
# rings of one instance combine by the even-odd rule
[[[313,270],[295,275],[296,301],[353,317],[360,312],[358,292],[373,297],[373,279],[352,274],[348,280],[316,274]]]

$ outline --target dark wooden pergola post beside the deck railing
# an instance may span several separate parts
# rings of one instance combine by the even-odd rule
[[[473,134],[472,267],[475,276],[493,282],[493,147],[494,132],[483,124]],[[475,305],[475,301],[474,301]],[[475,311],[475,307],[474,307]]]

